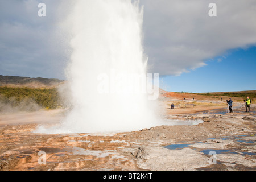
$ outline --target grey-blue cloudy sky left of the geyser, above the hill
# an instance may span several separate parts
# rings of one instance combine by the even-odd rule
[[[47,0],[47,17],[40,18],[39,2],[0,2],[0,75],[64,78],[68,44],[59,22],[65,14],[59,14],[60,1]]]

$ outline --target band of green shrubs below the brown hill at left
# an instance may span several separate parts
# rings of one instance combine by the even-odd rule
[[[10,88],[0,87],[0,102],[12,106],[19,105],[22,101],[32,100],[44,108],[56,109],[61,106],[61,98],[56,88]]]

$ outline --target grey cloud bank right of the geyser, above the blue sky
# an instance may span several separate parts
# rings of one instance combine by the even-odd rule
[[[141,0],[144,47],[151,72],[180,75],[229,49],[256,43],[256,1]]]

